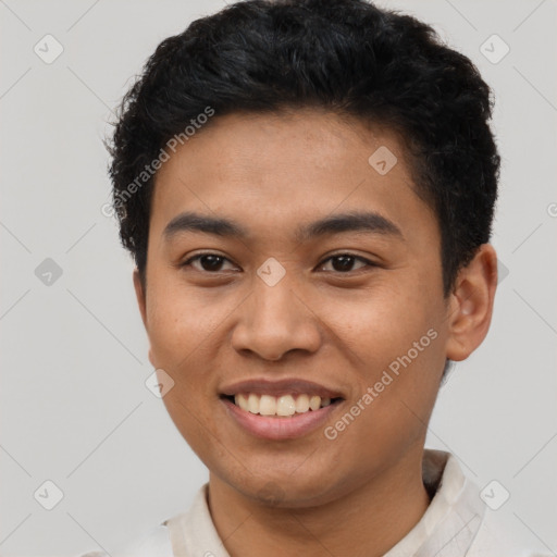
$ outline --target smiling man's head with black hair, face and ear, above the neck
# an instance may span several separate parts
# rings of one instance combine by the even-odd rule
[[[361,0],[238,2],[148,60],[114,208],[166,408],[231,487],[314,505],[420,454],[491,321],[490,95],[431,27]],[[319,428],[271,440],[232,416],[281,385],[334,395]]]

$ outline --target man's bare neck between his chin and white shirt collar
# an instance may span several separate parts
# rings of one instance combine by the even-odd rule
[[[422,454],[420,447],[419,454],[407,455],[349,493],[306,508],[263,505],[211,473],[211,517],[232,557],[381,557],[410,532],[430,504]]]

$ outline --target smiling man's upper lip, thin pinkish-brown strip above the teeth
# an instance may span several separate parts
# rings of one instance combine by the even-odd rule
[[[271,381],[269,379],[250,379],[226,385],[221,389],[224,396],[234,396],[239,393],[255,393],[258,395],[317,395],[321,398],[344,398],[338,391],[327,388],[319,383],[301,379],[282,379]]]

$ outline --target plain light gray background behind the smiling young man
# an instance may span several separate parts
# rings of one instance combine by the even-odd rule
[[[440,393],[428,446],[454,451],[480,488],[497,480],[510,498],[488,512],[555,553],[557,2],[381,4],[433,24],[497,101],[503,280],[485,343]],[[101,139],[156,46],[223,5],[0,0],[3,556],[115,550],[185,510],[208,478],[144,384],[152,369],[133,264],[101,213]],[[34,52],[46,34],[64,49],[51,64]],[[498,63],[480,51],[493,34],[510,47]],[[48,269],[35,271],[47,258],[62,270],[50,285],[39,280]],[[52,510],[34,496],[47,480],[64,494]]]

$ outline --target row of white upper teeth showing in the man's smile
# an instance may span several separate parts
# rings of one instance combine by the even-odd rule
[[[234,396],[234,403],[243,410],[261,416],[294,416],[296,412],[304,413],[310,409],[319,410],[331,404],[331,398],[321,398],[317,395],[297,395],[296,399],[294,396],[238,394]]]

